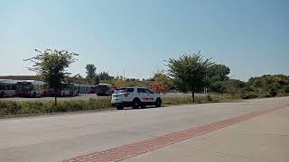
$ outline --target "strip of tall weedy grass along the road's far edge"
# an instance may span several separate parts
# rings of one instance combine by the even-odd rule
[[[195,97],[195,103],[224,102],[241,99],[239,95],[212,94],[205,97]],[[244,99],[256,98],[254,96],[243,96]],[[192,103],[191,96],[165,97],[164,105],[178,105]],[[89,100],[70,100],[59,101],[54,106],[53,101],[1,101],[0,117],[43,115],[57,112],[78,112],[78,111],[103,111],[112,109],[110,97],[89,99]]]

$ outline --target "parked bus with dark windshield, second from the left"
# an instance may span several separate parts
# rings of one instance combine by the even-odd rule
[[[24,97],[42,96],[44,93],[44,82],[36,80],[25,80],[17,82],[17,95]]]

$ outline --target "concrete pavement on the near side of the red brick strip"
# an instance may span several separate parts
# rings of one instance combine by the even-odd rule
[[[289,107],[125,162],[288,162]]]

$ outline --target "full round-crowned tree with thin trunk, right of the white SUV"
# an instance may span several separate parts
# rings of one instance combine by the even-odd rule
[[[183,93],[191,91],[192,101],[195,102],[194,94],[208,85],[206,73],[212,65],[210,59],[204,59],[200,52],[193,55],[182,55],[180,58],[170,58],[168,61],[169,74],[172,76],[174,85]]]

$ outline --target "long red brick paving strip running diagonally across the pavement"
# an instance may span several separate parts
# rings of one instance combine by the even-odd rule
[[[117,148],[107,149],[101,152],[94,152],[87,155],[73,157],[71,159],[63,160],[62,162],[108,162],[108,161],[120,161],[129,157],[135,157],[145,152],[152,151],[157,148],[163,148],[173,143],[180,142],[185,139],[191,139],[201,134],[208,133],[213,130],[219,130],[221,128],[228,127],[230,125],[236,124],[241,121],[247,121],[256,116],[265,114],[267,112],[273,112],[282,108],[287,107],[288,105],[283,105],[275,108],[266,109],[263,111],[250,112],[245,115],[238,117],[229,118],[223,121],[217,121],[207,125],[202,125],[197,128],[191,128],[188,130],[182,130],[160,136],[154,139],[146,139],[136,143],[120,146]]]

